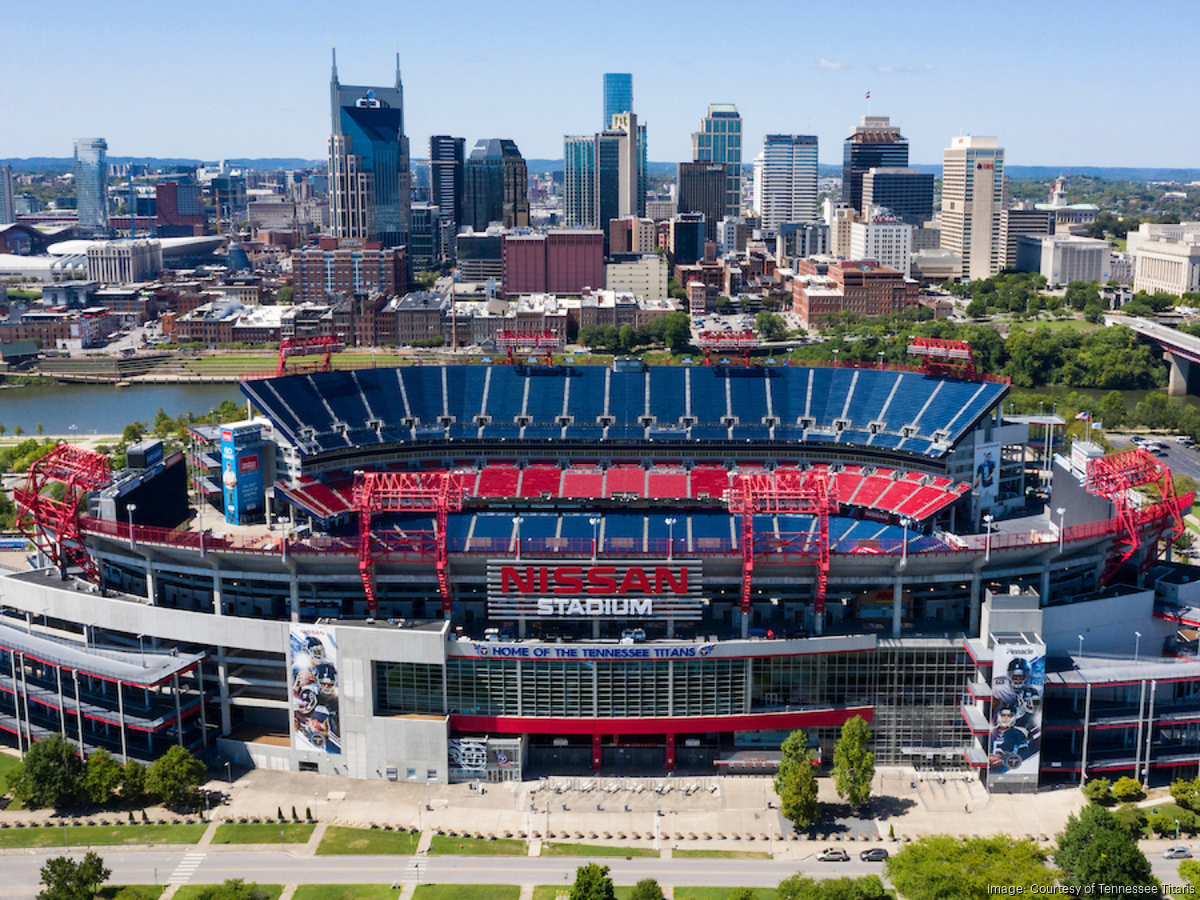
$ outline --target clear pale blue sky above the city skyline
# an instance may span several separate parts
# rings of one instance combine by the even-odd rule
[[[329,59],[391,82],[401,54],[414,157],[428,136],[516,140],[557,158],[600,127],[601,76],[632,72],[654,161],[690,157],[710,102],[737,103],[749,162],[764,133],[815,133],[821,161],[869,112],[911,158],[995,134],[1009,164],[1200,167],[1195,0],[10,4],[0,157],[323,158]]]

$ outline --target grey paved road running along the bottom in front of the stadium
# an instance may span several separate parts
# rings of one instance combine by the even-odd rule
[[[820,847],[812,845],[812,854]],[[340,856],[304,857],[281,851],[208,850],[187,854],[170,851],[113,851],[98,847],[104,864],[113,870],[113,884],[162,884],[190,856],[203,858],[185,866],[186,883],[215,884],[227,878],[244,878],[262,884],[389,884],[419,881],[422,884],[569,884],[575,870],[589,862],[610,866],[613,882],[635,884],[655,878],[664,886],[774,887],[797,872],[817,877],[883,875],[880,863],[859,862],[851,853],[846,863],[818,863],[811,856],[798,862],[776,859],[658,859],[658,858],[571,858],[571,857],[396,857]],[[54,850],[28,851],[0,857],[0,898],[34,900],[38,871]],[[72,856],[77,856],[72,853]],[[1151,866],[1164,884],[1182,884],[1178,860],[1151,852]]]

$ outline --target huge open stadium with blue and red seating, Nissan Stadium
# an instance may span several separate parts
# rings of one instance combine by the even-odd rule
[[[16,746],[419,782],[762,773],[796,728],[830,758],[858,715],[878,762],[991,790],[1200,763],[1200,572],[1160,558],[1190,497],[1140,450],[1051,456],[1062,420],[1006,418],[965,344],[329,371],[332,349],[281,349],[242,383],[254,418],[187,452],[34,466],[35,566],[0,578]]]

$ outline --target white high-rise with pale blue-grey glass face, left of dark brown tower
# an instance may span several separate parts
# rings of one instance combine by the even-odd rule
[[[816,136],[767,134],[762,140],[754,168],[754,208],[763,230],[775,234],[784,222],[816,221]]]

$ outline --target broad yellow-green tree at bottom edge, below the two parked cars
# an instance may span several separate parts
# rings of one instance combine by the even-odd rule
[[[905,900],[983,900],[1003,888],[1048,893],[1055,872],[1032,841],[1008,835],[960,840],[934,834],[908,844],[884,863],[892,887]]]

